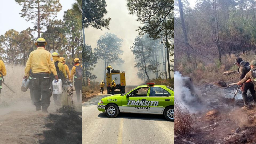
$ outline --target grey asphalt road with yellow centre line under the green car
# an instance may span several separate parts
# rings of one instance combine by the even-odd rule
[[[98,111],[101,98],[109,96],[104,91],[83,104],[83,133],[85,143],[131,144],[131,143],[174,143],[174,122],[163,115],[121,113],[108,118]]]

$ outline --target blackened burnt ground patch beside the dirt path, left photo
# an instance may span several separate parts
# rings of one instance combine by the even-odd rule
[[[55,143],[82,143],[82,114],[79,116],[77,112],[74,115],[71,111],[63,110],[62,107],[57,111],[62,111],[63,114],[49,114],[46,118],[44,127],[49,128],[43,131],[45,137],[40,143],[55,144]]]

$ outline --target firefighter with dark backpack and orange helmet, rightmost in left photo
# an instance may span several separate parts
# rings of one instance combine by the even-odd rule
[[[72,67],[70,79],[73,83],[74,77],[74,86],[75,86],[75,93],[77,94],[77,101],[80,101],[80,91],[82,92],[82,80],[83,80],[83,68],[80,65],[80,59],[74,59],[74,66]]]

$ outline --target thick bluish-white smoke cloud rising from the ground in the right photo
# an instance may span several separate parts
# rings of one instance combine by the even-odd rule
[[[174,72],[175,102],[181,103],[190,112],[203,109],[201,92],[189,77],[183,77],[178,71]]]

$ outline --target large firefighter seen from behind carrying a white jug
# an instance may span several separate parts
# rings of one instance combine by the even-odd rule
[[[45,39],[38,38],[35,45],[37,49],[29,54],[23,78],[27,79],[30,69],[32,69],[34,105],[37,111],[41,110],[42,106],[42,112],[48,112],[47,109],[50,105],[52,94],[50,90],[50,73],[53,73],[57,81],[59,77],[51,53],[45,50],[45,45],[47,45]]]

